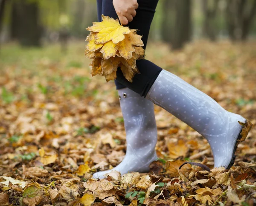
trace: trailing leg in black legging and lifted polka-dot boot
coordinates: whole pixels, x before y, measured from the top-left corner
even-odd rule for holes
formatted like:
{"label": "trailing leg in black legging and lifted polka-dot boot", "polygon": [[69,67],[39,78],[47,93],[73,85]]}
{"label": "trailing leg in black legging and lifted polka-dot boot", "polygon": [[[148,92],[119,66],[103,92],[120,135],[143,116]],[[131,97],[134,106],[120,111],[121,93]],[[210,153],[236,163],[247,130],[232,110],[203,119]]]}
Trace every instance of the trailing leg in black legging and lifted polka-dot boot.
{"label": "trailing leg in black legging and lifted polka-dot boot", "polygon": [[[145,46],[154,16],[154,9],[150,8],[148,2],[152,6],[157,1],[138,1],[137,15],[129,23],[131,29],[139,29],[138,34],[143,35]],[[120,68],[117,70],[116,81],[163,107],[198,131],[209,142],[215,167],[230,168],[236,157],[235,151],[243,128],[239,122],[245,123],[246,119],[224,110],[205,93],[150,61],[138,60],[137,67],[141,74],[136,74],[132,83],[125,79]],[[249,131],[250,126],[249,123]]]}

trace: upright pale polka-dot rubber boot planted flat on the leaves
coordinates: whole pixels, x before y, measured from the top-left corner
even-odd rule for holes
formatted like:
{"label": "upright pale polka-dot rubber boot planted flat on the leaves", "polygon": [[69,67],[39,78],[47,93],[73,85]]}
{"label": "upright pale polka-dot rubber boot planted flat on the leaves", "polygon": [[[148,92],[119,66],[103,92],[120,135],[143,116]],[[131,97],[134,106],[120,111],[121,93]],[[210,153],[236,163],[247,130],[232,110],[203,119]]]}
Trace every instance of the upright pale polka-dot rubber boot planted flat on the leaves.
{"label": "upright pale polka-dot rubber boot planted flat on the leaves", "polygon": [[157,160],[157,126],[154,104],[134,91],[118,90],[120,106],[125,123],[127,149],[125,158],[115,168],[93,174],[93,178],[105,178],[112,170],[122,174],[128,172],[148,172],[149,165]]}

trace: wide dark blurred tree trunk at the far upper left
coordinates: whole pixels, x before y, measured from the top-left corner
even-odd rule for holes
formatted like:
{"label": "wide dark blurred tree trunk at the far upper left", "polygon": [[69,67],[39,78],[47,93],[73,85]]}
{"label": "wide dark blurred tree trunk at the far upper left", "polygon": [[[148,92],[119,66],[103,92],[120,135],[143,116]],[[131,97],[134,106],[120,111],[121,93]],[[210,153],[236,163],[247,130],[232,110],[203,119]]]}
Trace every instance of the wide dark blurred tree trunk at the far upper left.
{"label": "wide dark blurred tree trunk at the far upper left", "polygon": [[41,46],[41,29],[38,3],[13,1],[11,37],[22,46]]}

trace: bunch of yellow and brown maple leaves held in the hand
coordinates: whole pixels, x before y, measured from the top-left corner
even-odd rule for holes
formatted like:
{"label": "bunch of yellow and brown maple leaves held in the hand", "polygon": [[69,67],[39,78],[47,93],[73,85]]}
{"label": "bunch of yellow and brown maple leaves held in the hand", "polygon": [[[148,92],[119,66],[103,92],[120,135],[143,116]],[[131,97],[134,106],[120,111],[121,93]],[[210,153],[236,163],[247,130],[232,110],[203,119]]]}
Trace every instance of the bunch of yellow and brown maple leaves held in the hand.
{"label": "bunch of yellow and brown maple leaves held in the hand", "polygon": [[140,73],[136,60],[143,58],[145,50],[137,35],[137,30],[120,25],[119,21],[102,15],[102,22],[93,22],[87,28],[90,34],[86,41],[85,56],[93,59],[90,63],[92,76],[105,76],[106,81],[116,79],[120,67],[125,78],[132,82],[135,74]]}

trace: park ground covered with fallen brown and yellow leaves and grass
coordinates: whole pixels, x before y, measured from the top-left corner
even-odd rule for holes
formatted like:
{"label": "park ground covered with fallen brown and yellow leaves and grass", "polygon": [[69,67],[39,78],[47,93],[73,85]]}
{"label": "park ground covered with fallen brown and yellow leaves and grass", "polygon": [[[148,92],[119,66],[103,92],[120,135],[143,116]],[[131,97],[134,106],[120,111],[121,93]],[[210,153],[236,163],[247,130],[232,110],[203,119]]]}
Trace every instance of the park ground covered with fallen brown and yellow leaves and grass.
{"label": "park ground covered with fallen brown and yellow leaves and grass", "polygon": [[[67,54],[58,45],[1,47],[0,205],[255,205],[256,129],[239,144],[230,170],[212,168],[207,141],[157,106],[160,159],[150,174],[90,179],[122,161],[125,131],[113,82],[91,78],[83,51],[81,42]],[[256,123],[255,41],[197,41],[178,52],[154,43],[146,55]],[[185,161],[212,170],[178,170]]]}

